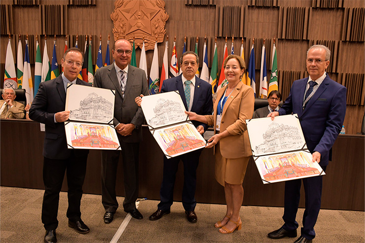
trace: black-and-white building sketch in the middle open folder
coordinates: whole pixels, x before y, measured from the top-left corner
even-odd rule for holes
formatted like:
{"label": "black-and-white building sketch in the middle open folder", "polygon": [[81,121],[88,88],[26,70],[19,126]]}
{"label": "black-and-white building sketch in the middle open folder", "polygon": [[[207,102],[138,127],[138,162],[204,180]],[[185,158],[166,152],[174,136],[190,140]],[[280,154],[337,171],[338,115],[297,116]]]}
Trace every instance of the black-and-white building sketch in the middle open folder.
{"label": "black-and-white building sketch in the middle open folder", "polygon": [[148,120],[151,126],[159,126],[169,124],[171,122],[185,120],[184,113],[179,102],[159,99],[156,106],[153,108],[154,117]]}

